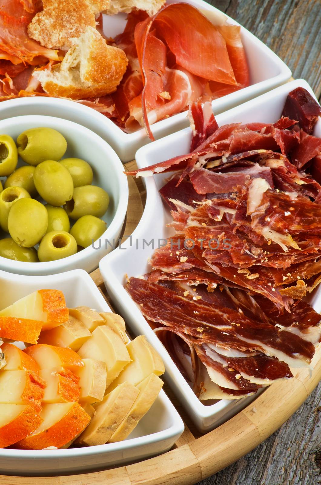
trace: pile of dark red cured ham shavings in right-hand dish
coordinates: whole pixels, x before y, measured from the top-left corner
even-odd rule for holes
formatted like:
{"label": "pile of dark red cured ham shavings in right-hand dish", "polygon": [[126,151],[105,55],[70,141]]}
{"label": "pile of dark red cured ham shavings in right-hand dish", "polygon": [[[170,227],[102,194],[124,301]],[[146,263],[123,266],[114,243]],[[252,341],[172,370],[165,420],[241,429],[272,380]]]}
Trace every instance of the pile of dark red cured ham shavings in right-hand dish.
{"label": "pile of dark red cured ham shavings in right-hand dish", "polygon": [[126,287],[202,400],[292,377],[321,340],[303,299],[321,281],[320,106],[297,88],[273,124],[209,110],[190,108],[191,153],[130,173],[175,171],[160,194],[176,234]]}

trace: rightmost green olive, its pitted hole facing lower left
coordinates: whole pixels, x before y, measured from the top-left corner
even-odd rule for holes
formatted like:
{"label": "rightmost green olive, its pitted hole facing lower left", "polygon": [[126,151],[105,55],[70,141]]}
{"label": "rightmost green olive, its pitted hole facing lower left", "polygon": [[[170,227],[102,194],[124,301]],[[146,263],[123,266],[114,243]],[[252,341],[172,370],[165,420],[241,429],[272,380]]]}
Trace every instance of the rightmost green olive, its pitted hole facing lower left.
{"label": "rightmost green olive, its pitted hole facing lower left", "polygon": [[109,195],[104,189],[95,185],[76,187],[72,199],[66,203],[65,210],[71,219],[79,219],[83,215],[102,217],[108,209]]}

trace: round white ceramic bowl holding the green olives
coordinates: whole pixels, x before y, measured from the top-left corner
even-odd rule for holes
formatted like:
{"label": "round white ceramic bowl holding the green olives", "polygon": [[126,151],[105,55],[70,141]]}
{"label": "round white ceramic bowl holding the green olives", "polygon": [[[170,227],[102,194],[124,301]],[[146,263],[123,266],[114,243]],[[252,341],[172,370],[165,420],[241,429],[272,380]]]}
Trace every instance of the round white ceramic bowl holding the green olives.
{"label": "round white ceramic bowl holding the green olives", "polygon": [[[107,229],[102,238],[111,244],[107,244],[107,248],[105,243],[101,244],[99,249],[90,245],[68,258],[44,263],[27,263],[0,257],[0,269],[21,275],[52,275],[76,268],[91,272],[97,268],[99,260],[111,251],[112,241],[118,241],[123,227],[128,205],[128,181],[123,173],[123,165],[114,150],[96,133],[71,121],[37,115],[16,116],[0,121],[0,133],[11,135],[15,140],[26,129],[36,127],[57,129],[67,140],[64,158],[78,157],[92,166],[93,184],[102,187],[110,195],[110,204],[103,217]],[[3,233],[2,237],[8,236]],[[99,245],[97,241],[94,247],[98,248]]]}

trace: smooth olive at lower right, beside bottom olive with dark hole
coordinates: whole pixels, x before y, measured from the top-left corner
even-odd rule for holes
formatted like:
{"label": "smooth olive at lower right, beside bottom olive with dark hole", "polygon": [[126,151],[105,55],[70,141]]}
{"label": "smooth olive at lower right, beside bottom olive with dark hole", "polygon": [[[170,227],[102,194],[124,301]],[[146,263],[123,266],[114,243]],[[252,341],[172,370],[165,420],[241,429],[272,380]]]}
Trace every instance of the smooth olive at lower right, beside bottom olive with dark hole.
{"label": "smooth olive at lower right, beside bottom olive with dark hole", "polygon": [[72,226],[70,234],[82,247],[90,246],[105,232],[107,224],[93,215],[83,215]]}

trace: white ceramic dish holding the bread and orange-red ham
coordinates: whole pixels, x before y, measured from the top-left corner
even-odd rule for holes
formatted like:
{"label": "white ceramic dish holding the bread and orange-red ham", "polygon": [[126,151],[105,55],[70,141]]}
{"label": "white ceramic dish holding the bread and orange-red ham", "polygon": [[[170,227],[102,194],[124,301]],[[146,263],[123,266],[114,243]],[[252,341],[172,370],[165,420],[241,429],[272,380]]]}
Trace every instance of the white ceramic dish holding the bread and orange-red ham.
{"label": "white ceramic dish holding the bread and orange-red ham", "polygon": [[[174,3],[176,0],[168,0]],[[222,13],[203,0],[185,0],[211,18]],[[239,25],[230,17],[228,22]],[[126,15],[104,16],[104,32],[108,37],[115,36],[124,30]],[[241,36],[247,55],[251,75],[251,85],[212,102],[216,114],[222,113],[233,106],[237,106],[248,99],[252,99],[288,81],[291,71],[281,59],[272,52],[265,44],[252,33],[241,27]],[[49,111],[48,111],[49,110]],[[20,98],[0,103],[0,119],[18,116],[21,114],[48,114],[60,116],[86,126],[95,131],[106,140],[116,151],[122,162],[128,162],[135,158],[135,152],[150,140],[145,129],[139,129],[134,133],[125,133],[118,128],[110,119],[91,108],[82,106],[72,101],[59,100],[56,98]],[[152,125],[152,131],[156,139],[160,139],[170,133],[188,126],[186,112],[175,114],[170,118],[161,120]]]}

